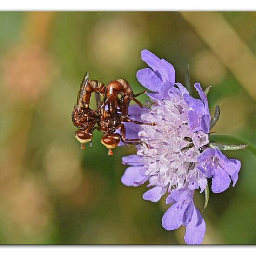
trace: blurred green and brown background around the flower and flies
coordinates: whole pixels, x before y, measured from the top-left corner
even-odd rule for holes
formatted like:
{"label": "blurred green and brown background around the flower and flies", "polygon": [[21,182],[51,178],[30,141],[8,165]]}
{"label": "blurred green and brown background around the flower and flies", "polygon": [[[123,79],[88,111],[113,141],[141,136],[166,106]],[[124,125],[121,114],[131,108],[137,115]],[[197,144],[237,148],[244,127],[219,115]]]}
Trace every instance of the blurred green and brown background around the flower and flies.
{"label": "blurred green and brown background around the flower and flies", "polygon": [[[71,112],[85,71],[104,83],[125,78],[143,90],[141,50],[171,62],[184,83],[211,85],[220,105],[213,131],[256,143],[255,12],[1,12],[0,243],[183,244],[166,231],[168,206],[125,187],[121,157],[101,134],[81,150]],[[140,100],[146,100],[140,96]],[[210,194],[205,244],[256,244],[256,160],[248,150],[236,186]],[[196,193],[199,209],[204,195]]]}

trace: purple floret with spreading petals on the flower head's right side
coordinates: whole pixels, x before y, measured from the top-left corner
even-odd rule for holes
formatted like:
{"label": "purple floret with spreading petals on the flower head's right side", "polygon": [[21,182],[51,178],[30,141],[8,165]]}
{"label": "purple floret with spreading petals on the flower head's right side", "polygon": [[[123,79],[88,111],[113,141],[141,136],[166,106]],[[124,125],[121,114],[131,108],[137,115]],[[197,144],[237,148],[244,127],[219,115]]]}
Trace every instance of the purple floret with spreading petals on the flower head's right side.
{"label": "purple floret with spreading petals on the flower head's right side", "polygon": [[197,158],[200,170],[207,178],[212,177],[212,191],[221,193],[225,191],[231,180],[233,187],[238,180],[238,172],[241,162],[236,159],[228,159],[218,148],[208,148]]}

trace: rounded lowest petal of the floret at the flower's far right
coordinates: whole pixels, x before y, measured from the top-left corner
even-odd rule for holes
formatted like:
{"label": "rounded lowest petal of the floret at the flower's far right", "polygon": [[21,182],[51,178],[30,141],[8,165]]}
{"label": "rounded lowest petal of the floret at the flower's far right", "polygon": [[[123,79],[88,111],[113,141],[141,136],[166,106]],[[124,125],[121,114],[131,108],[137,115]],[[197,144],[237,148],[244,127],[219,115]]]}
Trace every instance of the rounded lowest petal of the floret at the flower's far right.
{"label": "rounded lowest petal of the floret at the flower's far right", "polygon": [[212,192],[221,193],[226,190],[231,183],[229,175],[222,169],[215,170],[212,177]]}

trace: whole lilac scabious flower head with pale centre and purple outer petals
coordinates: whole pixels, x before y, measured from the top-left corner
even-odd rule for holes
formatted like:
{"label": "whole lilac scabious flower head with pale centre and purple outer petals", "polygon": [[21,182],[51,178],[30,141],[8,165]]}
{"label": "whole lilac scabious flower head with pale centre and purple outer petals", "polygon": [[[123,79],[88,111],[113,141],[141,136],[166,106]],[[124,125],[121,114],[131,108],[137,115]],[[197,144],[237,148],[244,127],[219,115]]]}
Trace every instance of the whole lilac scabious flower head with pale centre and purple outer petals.
{"label": "whole lilac scabious flower head with pale centre and purple outer petals", "polygon": [[152,93],[155,104],[151,109],[131,106],[130,118],[155,122],[155,126],[126,124],[128,137],[139,137],[137,154],[123,157],[129,165],[121,178],[127,186],[148,183],[150,189],[143,199],[158,202],[169,194],[166,204],[172,204],[162,218],[162,226],[174,230],[186,226],[185,242],[200,244],[205,235],[205,222],[195,207],[195,189],[202,193],[207,178],[212,178],[212,191],[226,190],[231,180],[238,179],[240,162],[228,159],[218,148],[209,148],[208,133],[211,116],[206,94],[195,83],[200,99],[175,82],[174,67],[148,50],[141,52],[142,60],[150,68],[137,72],[138,81]]}

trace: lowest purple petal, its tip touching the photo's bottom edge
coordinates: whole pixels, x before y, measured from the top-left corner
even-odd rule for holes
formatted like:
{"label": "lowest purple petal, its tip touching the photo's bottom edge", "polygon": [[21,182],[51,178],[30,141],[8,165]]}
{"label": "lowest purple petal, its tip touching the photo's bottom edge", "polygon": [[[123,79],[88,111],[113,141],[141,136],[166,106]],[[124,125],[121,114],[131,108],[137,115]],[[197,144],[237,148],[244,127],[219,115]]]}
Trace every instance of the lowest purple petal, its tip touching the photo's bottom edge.
{"label": "lowest purple petal, its tip touching the photo's bottom edge", "polygon": [[201,244],[205,235],[205,222],[199,210],[193,210],[192,219],[187,225],[185,233],[185,242],[187,244]]}

